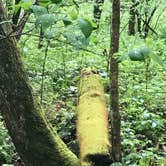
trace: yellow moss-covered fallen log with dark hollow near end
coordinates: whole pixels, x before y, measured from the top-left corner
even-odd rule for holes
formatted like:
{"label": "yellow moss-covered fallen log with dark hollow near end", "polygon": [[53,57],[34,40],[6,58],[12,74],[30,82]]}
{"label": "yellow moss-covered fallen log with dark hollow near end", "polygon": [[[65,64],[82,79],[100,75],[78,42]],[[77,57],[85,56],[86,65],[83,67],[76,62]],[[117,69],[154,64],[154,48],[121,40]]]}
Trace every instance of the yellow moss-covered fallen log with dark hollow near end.
{"label": "yellow moss-covered fallen log with dark hollow near end", "polygon": [[77,137],[81,165],[109,165],[108,112],[97,74],[83,70],[79,83]]}

